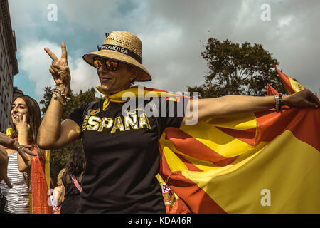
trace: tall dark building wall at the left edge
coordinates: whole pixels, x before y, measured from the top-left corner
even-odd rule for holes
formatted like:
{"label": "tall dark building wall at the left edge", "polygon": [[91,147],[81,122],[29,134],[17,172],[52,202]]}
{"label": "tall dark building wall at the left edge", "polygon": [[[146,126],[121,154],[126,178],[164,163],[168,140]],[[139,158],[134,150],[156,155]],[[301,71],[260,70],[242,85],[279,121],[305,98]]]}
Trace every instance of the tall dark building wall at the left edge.
{"label": "tall dark building wall at the left edge", "polygon": [[11,28],[8,0],[0,0],[0,131],[5,133],[10,123],[14,94],[14,75],[18,73],[16,38]]}

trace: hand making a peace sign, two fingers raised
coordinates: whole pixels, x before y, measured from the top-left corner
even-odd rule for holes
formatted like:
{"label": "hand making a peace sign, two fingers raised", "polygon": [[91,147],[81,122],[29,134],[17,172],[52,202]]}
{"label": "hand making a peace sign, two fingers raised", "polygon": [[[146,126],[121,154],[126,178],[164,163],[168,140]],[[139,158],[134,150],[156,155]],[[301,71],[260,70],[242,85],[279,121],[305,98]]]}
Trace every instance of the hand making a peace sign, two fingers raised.
{"label": "hand making a peace sign, two fingers raised", "polygon": [[65,95],[68,95],[71,77],[68,66],[67,47],[65,46],[65,42],[61,43],[60,59],[58,59],[57,56],[55,56],[55,54],[50,51],[49,48],[44,48],[44,50],[53,60],[49,71],[53,76],[56,88],[59,88]]}

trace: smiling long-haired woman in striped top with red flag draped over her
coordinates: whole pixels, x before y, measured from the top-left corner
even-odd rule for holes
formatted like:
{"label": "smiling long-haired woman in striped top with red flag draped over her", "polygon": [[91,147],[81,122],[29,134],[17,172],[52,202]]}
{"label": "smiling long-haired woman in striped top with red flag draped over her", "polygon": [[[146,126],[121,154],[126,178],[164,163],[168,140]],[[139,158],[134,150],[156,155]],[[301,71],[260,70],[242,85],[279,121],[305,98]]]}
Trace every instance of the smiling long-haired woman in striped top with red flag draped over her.
{"label": "smiling long-haired woman in striped top with red flag draped over her", "polygon": [[[40,108],[36,100],[28,95],[21,95],[11,105],[11,138],[18,144],[30,145],[32,154],[21,156],[19,147],[7,147],[9,156],[8,178],[12,188],[1,182],[1,192],[6,197],[7,203],[4,208],[8,213],[29,213],[29,187],[31,182],[33,213],[52,213],[46,202],[48,186],[44,173],[46,156],[44,151],[36,145],[38,128],[41,122]],[[25,150],[25,149],[23,149]],[[45,199],[45,200],[43,200]]]}

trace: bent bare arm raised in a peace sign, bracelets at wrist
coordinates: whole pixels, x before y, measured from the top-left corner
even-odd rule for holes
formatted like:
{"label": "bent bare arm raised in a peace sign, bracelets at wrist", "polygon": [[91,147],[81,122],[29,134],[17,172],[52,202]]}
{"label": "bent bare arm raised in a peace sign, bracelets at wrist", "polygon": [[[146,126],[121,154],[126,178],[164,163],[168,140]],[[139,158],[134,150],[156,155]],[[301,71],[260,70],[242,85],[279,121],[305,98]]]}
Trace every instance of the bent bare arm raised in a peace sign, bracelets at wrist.
{"label": "bent bare arm raised in a peace sign, bracelets at wrist", "polygon": [[61,58],[58,59],[49,48],[44,49],[52,58],[50,73],[55,81],[55,88],[60,90],[50,101],[50,105],[38,130],[38,147],[45,150],[60,149],[80,137],[80,127],[73,120],[64,120],[61,123],[65,99],[70,90],[70,71],[68,67],[67,48],[61,43]]}

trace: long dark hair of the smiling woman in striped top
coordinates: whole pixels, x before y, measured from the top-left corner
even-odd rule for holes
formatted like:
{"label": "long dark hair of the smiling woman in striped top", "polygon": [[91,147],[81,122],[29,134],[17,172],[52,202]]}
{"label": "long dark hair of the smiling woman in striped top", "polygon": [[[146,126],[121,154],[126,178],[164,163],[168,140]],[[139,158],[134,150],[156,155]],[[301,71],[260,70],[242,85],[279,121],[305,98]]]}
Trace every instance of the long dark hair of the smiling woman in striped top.
{"label": "long dark hair of the smiling woman in striped top", "polygon": [[[44,151],[36,145],[37,142],[37,135],[38,130],[41,124],[41,113],[40,113],[40,107],[36,100],[29,97],[28,95],[19,95],[18,97],[14,98],[14,101],[17,98],[22,98],[24,102],[26,102],[26,108],[28,109],[28,124],[30,124],[30,130],[28,132],[28,140],[31,140],[31,143],[34,144],[36,147],[36,151],[38,153],[38,156],[41,160],[46,160],[46,156],[44,154]],[[13,131],[13,134],[11,135],[11,138],[17,138],[18,132],[16,130],[16,126],[14,125],[14,122],[12,118],[10,118],[11,121],[11,128]]]}

